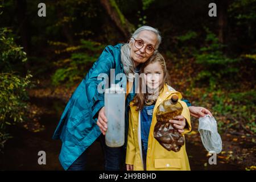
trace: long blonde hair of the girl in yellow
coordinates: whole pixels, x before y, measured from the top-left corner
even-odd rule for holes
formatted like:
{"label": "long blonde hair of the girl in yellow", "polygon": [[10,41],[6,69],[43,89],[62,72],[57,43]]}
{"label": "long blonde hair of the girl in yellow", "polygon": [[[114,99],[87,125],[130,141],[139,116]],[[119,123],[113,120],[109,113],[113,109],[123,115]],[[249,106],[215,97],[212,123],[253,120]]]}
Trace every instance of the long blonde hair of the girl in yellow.
{"label": "long blonde hair of the girl in yellow", "polygon": [[[165,83],[168,83],[168,72],[166,68],[166,61],[164,60],[164,57],[159,53],[156,52],[154,55],[150,57],[144,64],[142,64],[140,73],[144,72],[144,68],[147,67],[147,65],[152,64],[152,63],[160,63],[163,69],[163,82],[162,84],[159,85],[159,92],[163,89],[163,86]],[[158,92],[158,93],[159,93]],[[149,100],[148,96],[150,94],[148,92],[142,93],[142,78],[139,80],[139,92],[135,95],[134,97],[134,106],[137,106],[137,111],[142,110],[144,105],[152,105],[156,102],[155,100]]]}

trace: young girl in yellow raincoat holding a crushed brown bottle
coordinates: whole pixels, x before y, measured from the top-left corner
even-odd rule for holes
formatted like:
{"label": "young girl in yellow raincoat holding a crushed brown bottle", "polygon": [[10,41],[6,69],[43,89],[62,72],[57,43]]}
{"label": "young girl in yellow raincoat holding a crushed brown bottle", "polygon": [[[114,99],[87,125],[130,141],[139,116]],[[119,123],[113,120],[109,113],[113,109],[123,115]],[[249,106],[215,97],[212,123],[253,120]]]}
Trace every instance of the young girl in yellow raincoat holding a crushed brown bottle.
{"label": "young girl in yellow raincoat holding a crushed brown bottle", "polygon": [[[191,131],[187,105],[180,101],[181,94],[166,84],[167,69],[163,56],[160,53],[152,56],[141,68],[141,73],[144,73],[147,92],[137,93],[133,102],[130,103],[126,151],[127,171],[190,170],[185,144],[178,152],[168,151],[154,138],[158,106],[161,102],[170,99],[173,94],[179,96],[178,102],[183,106],[183,111],[176,120],[170,120],[170,123],[183,135]],[[158,92],[149,93],[148,89],[159,89],[159,94]],[[154,93],[156,93],[155,99]]]}

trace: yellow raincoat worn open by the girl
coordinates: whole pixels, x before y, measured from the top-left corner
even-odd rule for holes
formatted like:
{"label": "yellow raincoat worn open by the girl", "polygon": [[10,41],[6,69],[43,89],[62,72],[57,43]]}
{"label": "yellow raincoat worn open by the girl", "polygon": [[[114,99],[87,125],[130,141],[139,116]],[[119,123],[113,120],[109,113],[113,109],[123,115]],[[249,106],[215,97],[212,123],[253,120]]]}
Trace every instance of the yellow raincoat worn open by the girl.
{"label": "yellow raincoat worn open by the girl", "polygon": [[[154,138],[154,127],[156,124],[156,111],[158,106],[164,100],[170,99],[172,94],[179,96],[180,104],[183,106],[181,115],[187,120],[184,128],[184,133],[191,131],[190,114],[187,104],[180,101],[182,98],[181,93],[176,92],[167,84],[164,85],[162,92],[160,92],[158,100],[155,103],[152,123],[150,126],[150,133],[148,135],[148,149],[147,149],[147,164],[146,170],[190,170],[187,152],[185,150],[185,144],[180,148],[180,151],[168,151],[162,147],[158,141]],[[133,102],[130,103],[129,111],[129,133],[127,139],[127,151],[126,151],[126,164],[133,165],[135,171],[143,170],[142,160],[142,147],[141,147],[141,118],[140,111],[136,111],[136,106],[133,106]]]}

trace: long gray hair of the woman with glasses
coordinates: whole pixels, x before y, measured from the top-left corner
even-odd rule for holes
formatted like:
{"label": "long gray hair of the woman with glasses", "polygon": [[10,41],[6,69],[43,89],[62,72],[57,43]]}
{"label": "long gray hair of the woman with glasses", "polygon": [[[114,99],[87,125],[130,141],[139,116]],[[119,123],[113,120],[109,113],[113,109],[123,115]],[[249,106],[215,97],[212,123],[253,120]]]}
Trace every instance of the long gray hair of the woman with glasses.
{"label": "long gray hair of the woman with glasses", "polygon": [[[156,28],[153,28],[150,26],[142,26],[142,27],[139,27],[137,30],[135,30],[135,32],[131,36],[137,38],[138,34],[144,30],[151,31],[156,34],[157,39],[158,39],[158,42],[156,43],[156,51],[154,52],[154,53],[156,53],[157,49],[162,41],[160,32]],[[124,44],[121,48],[121,61],[122,61],[123,69],[125,71],[126,76],[129,76],[129,73],[135,73],[135,64],[134,64],[134,61],[130,57],[129,43]]]}

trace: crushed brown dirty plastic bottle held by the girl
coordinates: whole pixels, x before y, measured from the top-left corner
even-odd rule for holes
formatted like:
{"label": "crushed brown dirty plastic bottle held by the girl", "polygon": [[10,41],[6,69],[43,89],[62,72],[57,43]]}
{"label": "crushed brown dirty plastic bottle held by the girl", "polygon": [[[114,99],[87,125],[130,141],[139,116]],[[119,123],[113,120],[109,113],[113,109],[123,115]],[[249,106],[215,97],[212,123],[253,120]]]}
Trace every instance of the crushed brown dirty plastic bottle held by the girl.
{"label": "crushed brown dirty plastic bottle held by the girl", "polygon": [[168,151],[179,151],[180,147],[184,145],[184,137],[177,129],[169,122],[170,119],[174,119],[177,115],[180,115],[183,107],[177,102],[178,97],[172,96],[170,100],[162,102],[158,106],[156,112],[156,122],[154,128],[154,138],[166,148]]}

